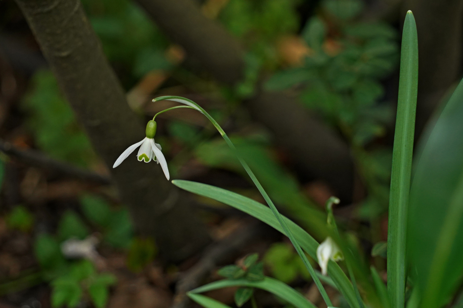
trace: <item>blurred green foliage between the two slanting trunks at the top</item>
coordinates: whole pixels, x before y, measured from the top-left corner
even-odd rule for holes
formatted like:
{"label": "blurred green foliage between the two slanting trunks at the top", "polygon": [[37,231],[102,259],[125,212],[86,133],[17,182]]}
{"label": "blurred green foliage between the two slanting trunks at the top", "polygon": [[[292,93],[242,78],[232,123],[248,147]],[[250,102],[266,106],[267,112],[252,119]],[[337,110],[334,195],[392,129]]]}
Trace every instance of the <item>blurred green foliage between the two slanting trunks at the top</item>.
{"label": "blurred green foliage between the two slanting trunks at the top", "polygon": [[109,61],[117,63],[123,84],[129,88],[152,70],[170,70],[166,59],[169,41],[145,12],[128,0],[83,0]]}

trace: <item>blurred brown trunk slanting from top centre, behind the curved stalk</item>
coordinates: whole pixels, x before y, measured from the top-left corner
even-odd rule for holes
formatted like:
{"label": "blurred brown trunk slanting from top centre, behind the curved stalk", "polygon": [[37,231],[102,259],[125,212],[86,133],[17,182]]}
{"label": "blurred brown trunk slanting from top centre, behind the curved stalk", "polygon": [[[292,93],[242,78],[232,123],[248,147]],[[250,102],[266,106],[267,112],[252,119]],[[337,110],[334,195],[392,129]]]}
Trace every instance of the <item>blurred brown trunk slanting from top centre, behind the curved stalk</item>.
{"label": "blurred brown trunk slanting from top centre, behind the curved stalk", "polygon": [[[242,77],[244,50],[193,0],[136,0],[172,41],[196,58],[217,80],[233,85]],[[226,76],[226,77],[224,77]],[[294,97],[261,92],[246,102],[251,115],[275,133],[302,170],[325,180],[343,202],[350,202],[353,163],[348,146],[310,116]]]}

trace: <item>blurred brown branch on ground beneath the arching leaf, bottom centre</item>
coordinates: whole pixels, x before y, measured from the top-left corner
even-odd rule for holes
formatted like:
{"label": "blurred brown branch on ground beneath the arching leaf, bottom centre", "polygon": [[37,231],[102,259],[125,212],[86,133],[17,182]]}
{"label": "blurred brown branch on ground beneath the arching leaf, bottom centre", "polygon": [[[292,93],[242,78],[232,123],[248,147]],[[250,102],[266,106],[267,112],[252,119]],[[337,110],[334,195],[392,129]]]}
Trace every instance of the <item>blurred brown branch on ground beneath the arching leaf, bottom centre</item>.
{"label": "blurred brown branch on ground beneath the arching leaf, bottom centre", "polygon": [[177,282],[174,304],[171,308],[186,308],[189,303],[187,292],[198,287],[217,264],[234,258],[240,248],[256,239],[260,231],[262,231],[262,224],[254,221],[227,236],[224,240],[213,243],[206,248],[201,259]]}

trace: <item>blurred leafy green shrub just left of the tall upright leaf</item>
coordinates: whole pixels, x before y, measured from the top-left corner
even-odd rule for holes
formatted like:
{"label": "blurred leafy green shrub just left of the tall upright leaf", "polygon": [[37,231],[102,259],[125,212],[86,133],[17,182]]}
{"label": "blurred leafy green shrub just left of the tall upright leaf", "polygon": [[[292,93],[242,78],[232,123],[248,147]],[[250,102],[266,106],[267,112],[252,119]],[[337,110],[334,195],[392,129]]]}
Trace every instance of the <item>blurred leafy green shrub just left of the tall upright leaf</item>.
{"label": "blurred leafy green shrub just left of the tall upright leaf", "polygon": [[266,88],[302,90],[301,103],[344,135],[369,193],[359,216],[374,220],[388,208],[392,157],[370,144],[393,120],[390,104],[378,102],[381,80],[399,59],[397,33],[382,22],[359,21],[363,1],[323,0],[321,6],[301,33],[310,48],[303,65],[276,72]]}

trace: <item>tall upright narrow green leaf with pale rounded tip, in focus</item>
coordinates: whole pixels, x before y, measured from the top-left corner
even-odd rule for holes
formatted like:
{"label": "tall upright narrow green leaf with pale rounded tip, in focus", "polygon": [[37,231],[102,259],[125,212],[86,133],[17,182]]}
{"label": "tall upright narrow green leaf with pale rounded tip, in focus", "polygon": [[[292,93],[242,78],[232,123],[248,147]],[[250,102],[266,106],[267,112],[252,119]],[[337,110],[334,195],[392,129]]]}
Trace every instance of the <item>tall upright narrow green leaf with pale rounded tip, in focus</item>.
{"label": "tall upright narrow green leaf with pale rounded tip, in focus", "polygon": [[403,308],[405,305],[405,235],[412,173],[417,91],[418,36],[413,13],[408,11],[402,34],[399,99],[389,197],[388,292],[392,308]]}

